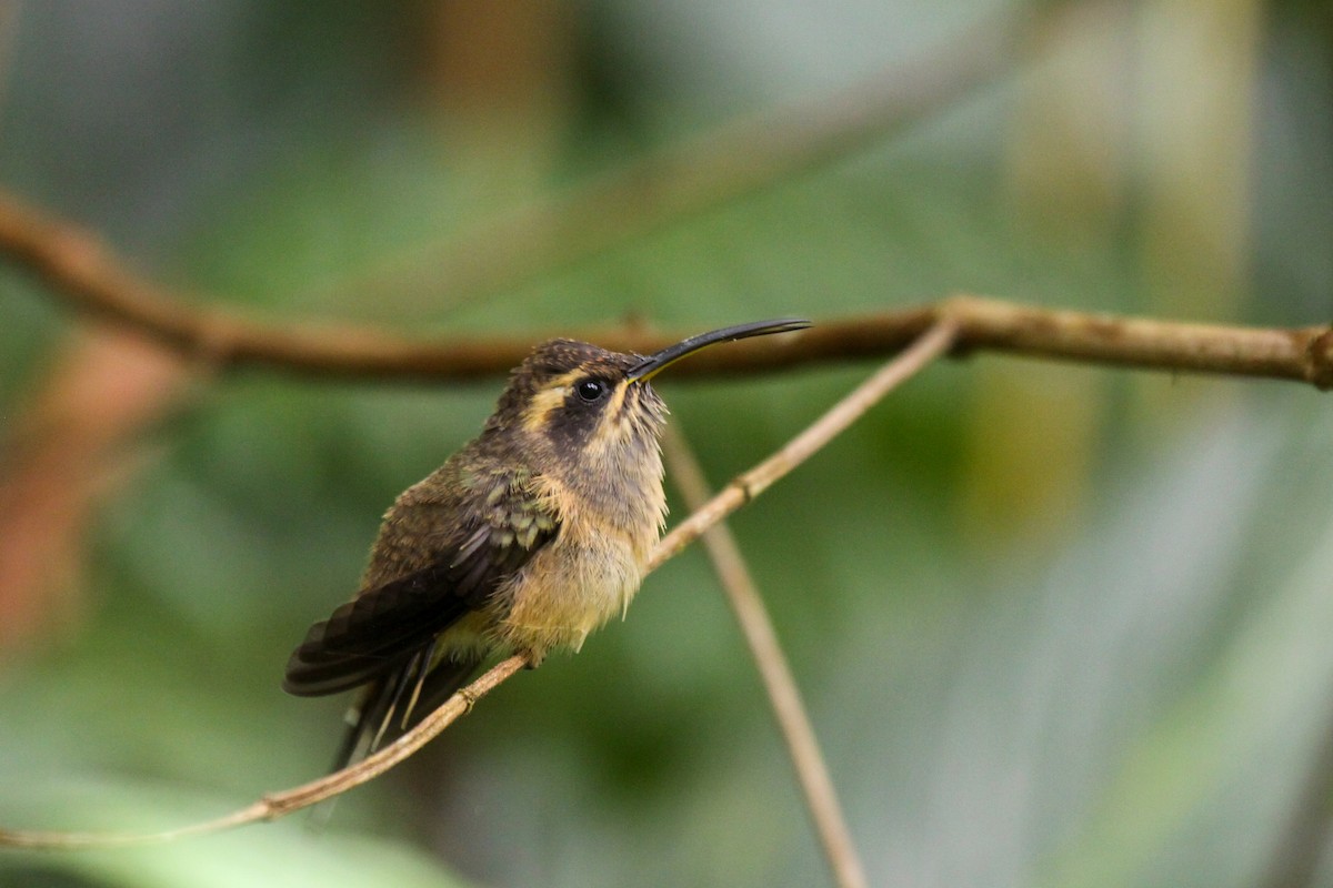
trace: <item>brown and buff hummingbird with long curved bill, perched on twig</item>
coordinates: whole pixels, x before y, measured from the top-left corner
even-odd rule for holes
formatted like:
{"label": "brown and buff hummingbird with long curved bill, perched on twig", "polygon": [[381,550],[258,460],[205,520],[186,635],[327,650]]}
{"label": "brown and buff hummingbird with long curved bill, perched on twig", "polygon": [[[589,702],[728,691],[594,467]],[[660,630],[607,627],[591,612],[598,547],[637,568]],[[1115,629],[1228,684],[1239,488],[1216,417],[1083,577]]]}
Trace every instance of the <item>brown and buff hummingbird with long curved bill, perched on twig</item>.
{"label": "brown and buff hummingbird with long curved bill, perched on twig", "polygon": [[364,686],[335,770],[407,730],[487,658],[521,654],[535,668],[624,616],[666,518],[666,406],[649,381],[710,345],[808,326],[741,324],[647,357],[536,346],[481,434],[399,495],[360,590],[287,663],[283,688],[297,696]]}

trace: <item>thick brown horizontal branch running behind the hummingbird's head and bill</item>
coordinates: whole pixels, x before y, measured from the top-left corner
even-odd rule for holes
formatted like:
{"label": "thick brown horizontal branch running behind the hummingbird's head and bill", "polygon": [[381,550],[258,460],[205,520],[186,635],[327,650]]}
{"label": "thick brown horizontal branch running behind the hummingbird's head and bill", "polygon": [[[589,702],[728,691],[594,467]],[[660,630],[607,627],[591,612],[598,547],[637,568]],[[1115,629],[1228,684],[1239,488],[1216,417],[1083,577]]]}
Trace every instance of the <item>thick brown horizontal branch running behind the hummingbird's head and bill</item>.
{"label": "thick brown horizontal branch running behind the hummingbird's head and bill", "polygon": [[[127,272],[96,240],[0,196],[0,253],[36,273],[76,309],[124,325],[188,358],[320,377],[473,379],[507,373],[532,342],[517,337],[412,341],[360,326],[276,328],[176,301]],[[737,342],[681,363],[673,377],[765,373],[884,358],[932,325],[957,326],[956,353],[1009,351],[1146,370],[1210,373],[1333,387],[1333,328],[1184,324],[1022,306],[958,296],[936,305],[825,320],[782,342]],[[689,330],[688,333],[693,333]],[[677,335],[564,330],[619,351],[653,351]]]}

